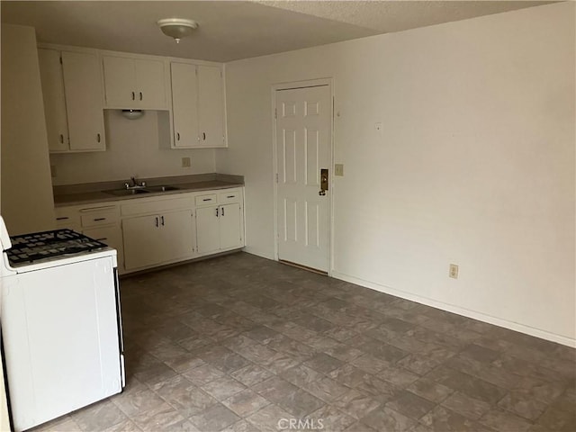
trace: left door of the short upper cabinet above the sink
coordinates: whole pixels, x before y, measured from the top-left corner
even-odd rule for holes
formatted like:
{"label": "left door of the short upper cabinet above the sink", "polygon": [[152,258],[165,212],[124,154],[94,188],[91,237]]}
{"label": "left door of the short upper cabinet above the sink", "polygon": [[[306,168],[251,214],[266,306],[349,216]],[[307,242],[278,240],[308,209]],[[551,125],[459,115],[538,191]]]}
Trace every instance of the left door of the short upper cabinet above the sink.
{"label": "left door of the short upper cabinet above the sink", "polygon": [[134,60],[103,57],[104,88],[108,108],[134,108],[136,105],[136,69]]}

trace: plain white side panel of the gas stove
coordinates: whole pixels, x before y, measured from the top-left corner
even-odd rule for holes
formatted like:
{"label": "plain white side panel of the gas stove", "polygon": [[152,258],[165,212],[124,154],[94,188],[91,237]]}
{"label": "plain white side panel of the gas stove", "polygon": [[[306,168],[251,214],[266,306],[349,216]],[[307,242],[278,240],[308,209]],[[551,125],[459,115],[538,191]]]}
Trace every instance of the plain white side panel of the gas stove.
{"label": "plain white side panel of the gas stove", "polygon": [[2,280],[16,431],[121,392],[113,267],[103,257]]}

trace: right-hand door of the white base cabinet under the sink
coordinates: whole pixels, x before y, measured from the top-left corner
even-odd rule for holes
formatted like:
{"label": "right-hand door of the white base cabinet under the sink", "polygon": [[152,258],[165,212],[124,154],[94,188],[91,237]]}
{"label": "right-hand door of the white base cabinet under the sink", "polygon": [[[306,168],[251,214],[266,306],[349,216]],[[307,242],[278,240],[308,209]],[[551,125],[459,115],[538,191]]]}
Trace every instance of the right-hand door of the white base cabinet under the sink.
{"label": "right-hand door of the white base cabinet under the sink", "polygon": [[192,211],[171,211],[160,215],[162,262],[193,256]]}

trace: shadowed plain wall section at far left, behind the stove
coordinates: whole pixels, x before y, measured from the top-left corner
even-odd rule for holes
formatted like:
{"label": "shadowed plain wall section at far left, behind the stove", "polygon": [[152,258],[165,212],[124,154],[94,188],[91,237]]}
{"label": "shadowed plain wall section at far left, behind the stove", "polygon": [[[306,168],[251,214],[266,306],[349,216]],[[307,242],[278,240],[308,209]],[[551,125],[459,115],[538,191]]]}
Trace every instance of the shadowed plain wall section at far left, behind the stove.
{"label": "shadowed plain wall section at far left, behind the stove", "polygon": [[2,202],[11,235],[53,229],[36,33],[2,23]]}

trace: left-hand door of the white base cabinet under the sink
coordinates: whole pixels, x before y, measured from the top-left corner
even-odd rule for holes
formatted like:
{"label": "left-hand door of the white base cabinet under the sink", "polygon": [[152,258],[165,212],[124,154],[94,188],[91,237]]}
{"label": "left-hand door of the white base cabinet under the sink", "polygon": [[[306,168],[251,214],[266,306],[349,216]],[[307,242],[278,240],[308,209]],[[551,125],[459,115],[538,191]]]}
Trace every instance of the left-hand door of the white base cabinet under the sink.
{"label": "left-hand door of the white base cabinet under the sink", "polygon": [[159,223],[159,215],[122,220],[126,270],[154,266],[162,261]]}

